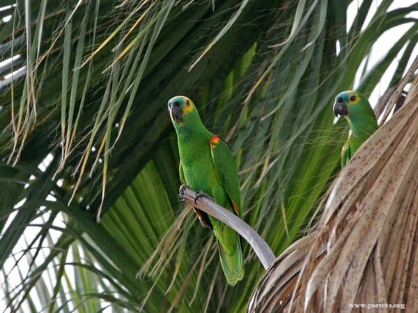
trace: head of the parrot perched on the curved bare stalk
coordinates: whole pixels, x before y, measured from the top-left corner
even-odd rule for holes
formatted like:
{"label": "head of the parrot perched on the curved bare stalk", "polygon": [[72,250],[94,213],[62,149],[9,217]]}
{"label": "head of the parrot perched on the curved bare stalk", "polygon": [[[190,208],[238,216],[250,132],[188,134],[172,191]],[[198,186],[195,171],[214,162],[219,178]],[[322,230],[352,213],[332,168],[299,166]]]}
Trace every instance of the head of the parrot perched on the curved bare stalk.
{"label": "head of the parrot perched on the curved bare stalk", "polygon": [[176,96],[169,99],[169,113],[174,127],[183,127],[201,123],[199,113],[192,100],[185,96]]}

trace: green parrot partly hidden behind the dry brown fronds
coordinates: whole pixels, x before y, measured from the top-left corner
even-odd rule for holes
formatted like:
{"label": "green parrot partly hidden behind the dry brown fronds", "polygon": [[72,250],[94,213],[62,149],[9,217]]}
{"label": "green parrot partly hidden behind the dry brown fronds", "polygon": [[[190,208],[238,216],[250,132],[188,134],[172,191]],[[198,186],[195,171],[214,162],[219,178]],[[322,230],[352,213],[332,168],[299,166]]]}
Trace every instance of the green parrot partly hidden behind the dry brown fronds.
{"label": "green parrot partly hidden behind the dry brown fronds", "polygon": [[346,166],[360,145],[378,129],[376,115],[369,100],[362,93],[347,90],[339,93],[334,102],[335,116],[344,116],[350,124],[350,133],[341,150],[341,166]]}

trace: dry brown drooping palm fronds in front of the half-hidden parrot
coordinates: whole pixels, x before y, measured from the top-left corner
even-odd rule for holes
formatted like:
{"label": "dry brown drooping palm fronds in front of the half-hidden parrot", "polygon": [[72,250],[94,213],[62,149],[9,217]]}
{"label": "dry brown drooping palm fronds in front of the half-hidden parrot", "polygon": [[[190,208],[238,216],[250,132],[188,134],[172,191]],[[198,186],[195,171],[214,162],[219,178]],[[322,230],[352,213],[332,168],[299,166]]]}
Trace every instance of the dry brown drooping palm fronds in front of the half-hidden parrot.
{"label": "dry brown drooping palm fronds in front of the half-hidden parrot", "polygon": [[417,63],[392,95],[385,94],[387,104],[378,107],[385,124],[336,177],[316,226],[263,275],[248,312],[394,312],[353,304],[417,312],[417,77],[401,99]]}

